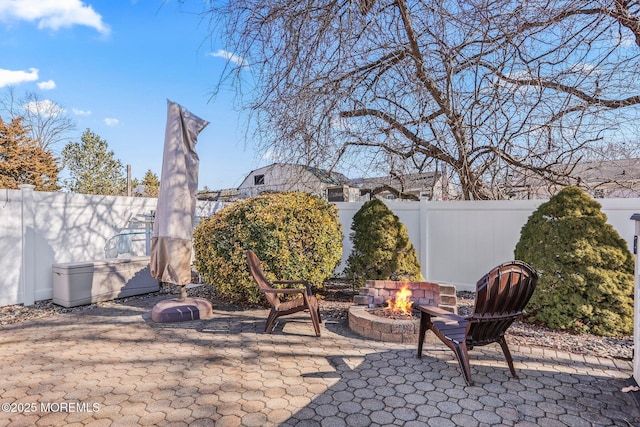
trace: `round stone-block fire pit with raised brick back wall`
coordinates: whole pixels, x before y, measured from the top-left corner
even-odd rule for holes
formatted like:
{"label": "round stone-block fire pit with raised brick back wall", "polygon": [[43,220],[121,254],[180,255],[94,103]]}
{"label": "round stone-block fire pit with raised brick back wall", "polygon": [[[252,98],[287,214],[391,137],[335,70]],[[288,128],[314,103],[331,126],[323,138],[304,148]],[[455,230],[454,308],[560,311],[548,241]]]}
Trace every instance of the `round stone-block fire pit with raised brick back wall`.
{"label": "round stone-block fire pit with raised brick back wall", "polygon": [[453,285],[368,280],[359,295],[354,297],[356,305],[349,309],[349,328],[365,338],[397,343],[417,343],[420,331],[420,319],[417,315],[391,318],[374,314],[376,308],[379,310],[386,306],[386,301],[395,298],[398,290],[405,285],[411,291],[414,307],[437,305],[457,313],[456,288]]}

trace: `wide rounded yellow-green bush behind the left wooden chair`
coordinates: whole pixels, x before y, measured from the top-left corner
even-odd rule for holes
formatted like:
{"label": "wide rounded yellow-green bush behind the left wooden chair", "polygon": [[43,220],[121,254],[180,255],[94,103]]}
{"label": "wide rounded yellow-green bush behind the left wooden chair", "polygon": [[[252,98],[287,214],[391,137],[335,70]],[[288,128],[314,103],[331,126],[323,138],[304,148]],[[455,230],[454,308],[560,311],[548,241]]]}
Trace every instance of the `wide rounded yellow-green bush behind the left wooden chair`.
{"label": "wide rounded yellow-green bush behind the left wooden chair", "polygon": [[247,249],[270,279],[304,279],[321,287],[342,258],[335,206],[317,196],[273,193],[243,200],[204,219],[194,231],[195,268],[229,300],[264,302],[249,275]]}

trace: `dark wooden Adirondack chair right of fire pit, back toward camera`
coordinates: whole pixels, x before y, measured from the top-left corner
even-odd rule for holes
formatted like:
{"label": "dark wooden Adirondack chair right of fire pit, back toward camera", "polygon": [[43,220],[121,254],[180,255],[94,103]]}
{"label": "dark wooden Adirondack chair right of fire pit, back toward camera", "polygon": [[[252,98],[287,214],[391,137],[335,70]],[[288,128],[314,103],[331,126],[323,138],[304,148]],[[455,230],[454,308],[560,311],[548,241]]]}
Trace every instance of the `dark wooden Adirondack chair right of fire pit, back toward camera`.
{"label": "dark wooden Adirondack chair right of fire pit, back toward camera", "polygon": [[517,378],[513,358],[504,334],[511,324],[524,313],[538,282],[536,271],[521,261],[501,264],[482,277],[476,284],[473,313],[458,316],[439,307],[421,305],[418,358],[427,330],[453,350],[468,385],[471,380],[469,353],[474,346],[498,343],[502,347],[511,375]]}

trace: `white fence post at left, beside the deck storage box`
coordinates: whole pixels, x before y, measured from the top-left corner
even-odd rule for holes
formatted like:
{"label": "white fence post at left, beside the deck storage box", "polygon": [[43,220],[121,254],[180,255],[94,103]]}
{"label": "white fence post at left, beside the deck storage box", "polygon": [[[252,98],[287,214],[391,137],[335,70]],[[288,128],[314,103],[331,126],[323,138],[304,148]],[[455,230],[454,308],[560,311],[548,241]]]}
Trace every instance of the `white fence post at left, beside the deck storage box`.
{"label": "white fence post at left, beside the deck storage box", "polygon": [[35,185],[20,184],[22,201],[22,271],[20,287],[22,288],[22,303],[30,306],[36,299],[35,272],[35,208],[33,203],[33,189]]}

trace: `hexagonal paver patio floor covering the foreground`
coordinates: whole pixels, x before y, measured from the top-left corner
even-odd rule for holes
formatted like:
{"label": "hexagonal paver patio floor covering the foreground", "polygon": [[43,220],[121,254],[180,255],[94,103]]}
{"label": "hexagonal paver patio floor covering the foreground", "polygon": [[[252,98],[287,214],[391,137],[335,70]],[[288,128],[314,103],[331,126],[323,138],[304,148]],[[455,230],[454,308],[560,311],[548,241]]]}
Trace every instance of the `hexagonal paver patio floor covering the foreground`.
{"label": "hexagonal paver patio floor covering the foreground", "polygon": [[[166,296],[0,327],[0,425],[636,426],[630,361],[496,345],[452,353],[366,340],[308,315],[263,334],[267,310],[156,324]],[[428,334],[428,337],[431,334]],[[431,338],[433,338],[431,336]]]}

